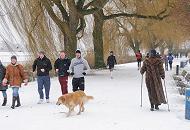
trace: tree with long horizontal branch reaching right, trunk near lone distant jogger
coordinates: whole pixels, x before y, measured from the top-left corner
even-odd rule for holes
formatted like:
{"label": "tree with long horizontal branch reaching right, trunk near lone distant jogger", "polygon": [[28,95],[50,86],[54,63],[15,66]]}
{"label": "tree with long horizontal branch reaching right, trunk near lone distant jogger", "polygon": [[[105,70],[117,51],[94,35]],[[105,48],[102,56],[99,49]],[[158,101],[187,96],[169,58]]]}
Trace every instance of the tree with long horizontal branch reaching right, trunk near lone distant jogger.
{"label": "tree with long horizontal branch reaching right, trunk near lone distant jogger", "polygon": [[[142,14],[136,8],[139,5],[139,2],[135,1],[133,9],[130,6],[127,6],[131,0],[113,0],[110,5],[105,5],[104,10],[101,9],[94,13],[94,30],[93,30],[93,42],[95,50],[95,66],[104,67],[104,55],[103,55],[103,25],[107,20],[111,20],[118,17],[125,18],[139,18],[139,19],[152,19],[152,20],[163,20],[168,16],[168,7],[164,6],[158,12],[151,14]],[[133,1],[132,1],[133,2]],[[149,1],[150,3],[151,1]],[[118,7],[117,4],[120,3],[121,7]],[[106,9],[106,8],[111,9]],[[130,7],[130,9],[129,9]],[[131,11],[129,11],[131,10]],[[96,53],[96,51],[98,53]]]}

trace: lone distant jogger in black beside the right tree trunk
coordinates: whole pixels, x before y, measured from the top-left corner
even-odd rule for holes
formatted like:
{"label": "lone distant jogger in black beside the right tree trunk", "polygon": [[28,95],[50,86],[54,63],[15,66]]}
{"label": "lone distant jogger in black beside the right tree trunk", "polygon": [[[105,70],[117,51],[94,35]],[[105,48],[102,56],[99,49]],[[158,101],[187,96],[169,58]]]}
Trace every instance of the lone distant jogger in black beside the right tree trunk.
{"label": "lone distant jogger in black beside the right tree trunk", "polygon": [[113,75],[112,75],[112,71],[114,69],[114,65],[117,64],[117,61],[116,61],[116,58],[115,56],[113,55],[113,51],[110,51],[110,56],[108,57],[107,59],[107,65],[108,65],[108,68],[110,70],[110,75],[111,75],[111,78],[113,78]]}

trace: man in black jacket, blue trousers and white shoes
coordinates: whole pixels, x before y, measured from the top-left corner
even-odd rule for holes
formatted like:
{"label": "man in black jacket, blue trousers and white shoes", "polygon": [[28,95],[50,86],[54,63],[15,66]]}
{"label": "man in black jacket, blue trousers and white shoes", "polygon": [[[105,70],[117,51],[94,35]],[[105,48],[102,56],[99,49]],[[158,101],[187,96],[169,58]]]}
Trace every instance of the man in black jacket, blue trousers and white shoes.
{"label": "man in black jacket, blue trousers and white shoes", "polygon": [[38,53],[39,57],[34,61],[33,72],[37,67],[37,82],[38,82],[38,93],[40,95],[40,100],[38,104],[43,103],[44,93],[43,87],[45,88],[46,102],[49,103],[49,92],[50,92],[50,76],[49,71],[52,70],[52,65],[50,60],[45,56],[44,52]]}

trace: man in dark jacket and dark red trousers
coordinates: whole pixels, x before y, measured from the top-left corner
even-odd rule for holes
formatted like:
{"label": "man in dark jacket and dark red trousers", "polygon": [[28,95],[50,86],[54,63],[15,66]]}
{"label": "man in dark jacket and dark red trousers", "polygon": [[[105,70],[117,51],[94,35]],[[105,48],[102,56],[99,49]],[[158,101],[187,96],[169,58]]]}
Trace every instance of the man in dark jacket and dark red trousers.
{"label": "man in dark jacket and dark red trousers", "polygon": [[68,70],[71,60],[68,59],[64,51],[60,52],[60,57],[55,61],[54,69],[58,73],[59,83],[61,85],[62,95],[68,93]]}

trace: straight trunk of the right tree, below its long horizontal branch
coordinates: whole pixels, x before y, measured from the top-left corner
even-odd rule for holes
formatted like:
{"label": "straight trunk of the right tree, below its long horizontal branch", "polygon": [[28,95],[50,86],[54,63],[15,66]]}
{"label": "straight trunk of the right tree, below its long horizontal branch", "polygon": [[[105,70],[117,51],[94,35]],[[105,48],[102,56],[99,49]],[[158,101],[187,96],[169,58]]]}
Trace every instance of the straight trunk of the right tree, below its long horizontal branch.
{"label": "straight trunk of the right tree, below its long horizontal branch", "polygon": [[94,14],[94,30],[93,30],[93,42],[94,42],[94,56],[95,56],[95,68],[105,67],[104,63],[104,47],[103,47],[103,10]]}

